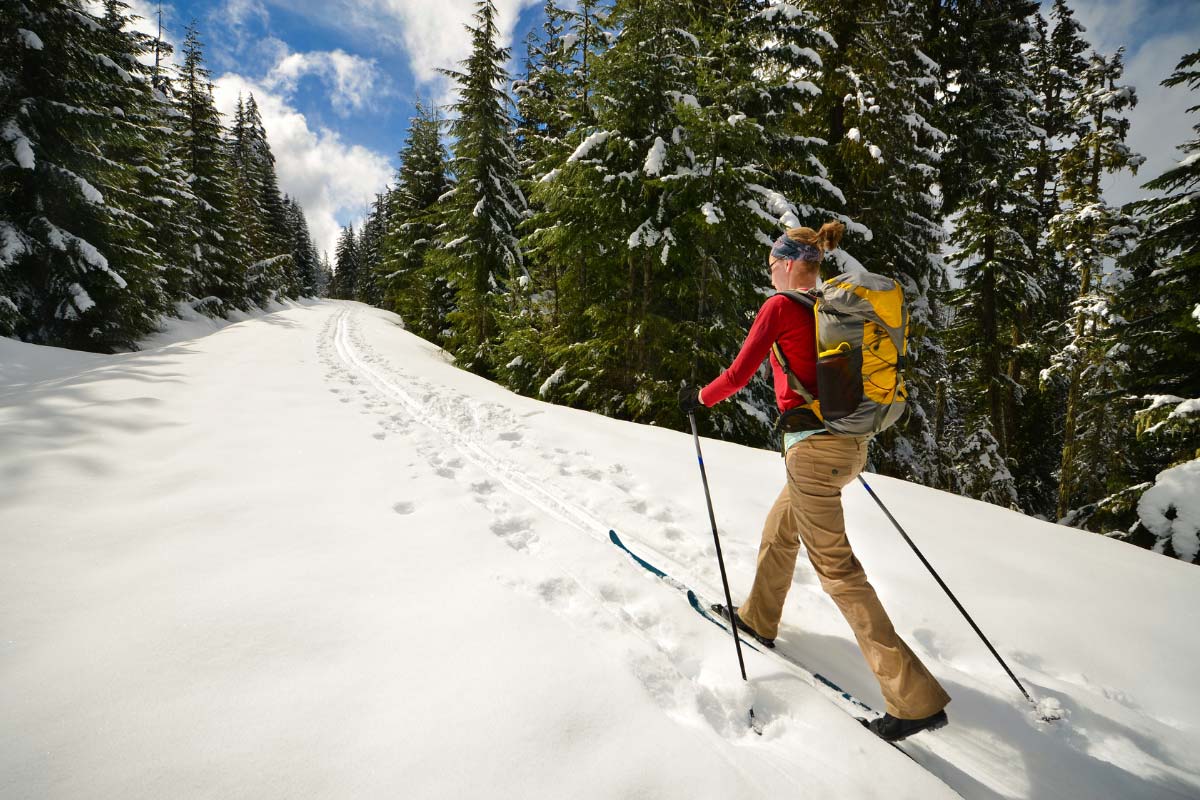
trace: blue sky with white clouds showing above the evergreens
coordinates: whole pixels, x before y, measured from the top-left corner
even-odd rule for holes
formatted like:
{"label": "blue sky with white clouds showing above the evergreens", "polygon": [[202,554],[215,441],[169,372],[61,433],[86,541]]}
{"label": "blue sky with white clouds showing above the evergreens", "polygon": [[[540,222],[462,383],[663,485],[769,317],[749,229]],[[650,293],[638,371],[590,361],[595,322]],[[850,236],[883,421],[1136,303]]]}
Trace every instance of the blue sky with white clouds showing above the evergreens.
{"label": "blue sky with white clouds showing above the evergreens", "polygon": [[[126,0],[150,26],[158,4]],[[1044,5],[1049,6],[1049,2]],[[1072,0],[1093,47],[1127,49],[1127,83],[1140,103],[1130,145],[1147,157],[1138,175],[1108,181],[1110,199],[1172,163],[1188,138],[1184,91],[1165,90],[1183,53],[1200,42],[1200,0]],[[362,218],[392,178],[413,104],[450,100],[437,73],[467,55],[470,0],[173,0],[163,2],[167,37],[181,42],[199,23],[217,102],[232,109],[252,91],[263,109],[280,185],[305,207],[317,246],[332,251],[338,227]],[[541,0],[497,0],[512,67],[524,35],[540,24]]]}

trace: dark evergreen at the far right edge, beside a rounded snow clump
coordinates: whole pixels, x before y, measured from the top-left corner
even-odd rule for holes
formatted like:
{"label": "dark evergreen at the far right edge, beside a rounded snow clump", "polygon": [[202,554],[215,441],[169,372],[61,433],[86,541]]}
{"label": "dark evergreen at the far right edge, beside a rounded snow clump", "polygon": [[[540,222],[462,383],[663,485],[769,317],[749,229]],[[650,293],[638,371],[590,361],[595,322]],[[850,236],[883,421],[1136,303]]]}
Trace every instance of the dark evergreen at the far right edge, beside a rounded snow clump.
{"label": "dark evergreen at the far right edge, beside a rounded snow clump", "polygon": [[[1184,55],[1163,85],[1200,89],[1200,50]],[[1198,112],[1200,104],[1188,108]],[[1076,516],[1093,530],[1126,531],[1138,545],[1196,561],[1195,522],[1178,499],[1147,493],[1162,473],[1195,469],[1200,459],[1200,122],[1193,131],[1178,146],[1180,163],[1145,185],[1162,194],[1132,209],[1141,237],[1121,261],[1129,278],[1114,297],[1106,345],[1129,365],[1112,402],[1115,416],[1134,411],[1136,440],[1120,443],[1129,457],[1115,491]],[[1128,416],[1115,423],[1128,429]]]}

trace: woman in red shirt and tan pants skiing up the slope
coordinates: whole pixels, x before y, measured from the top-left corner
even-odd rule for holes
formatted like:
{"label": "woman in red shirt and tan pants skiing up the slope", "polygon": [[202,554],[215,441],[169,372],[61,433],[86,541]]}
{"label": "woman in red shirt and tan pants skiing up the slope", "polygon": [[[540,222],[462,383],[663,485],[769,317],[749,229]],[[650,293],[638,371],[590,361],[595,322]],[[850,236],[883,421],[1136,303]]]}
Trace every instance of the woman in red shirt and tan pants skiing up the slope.
{"label": "woman in red shirt and tan pants skiing up the slope", "polygon": [[[821,230],[791,228],[770,248],[772,285],[778,291],[812,289],[826,252],[838,247],[844,231],[840,222],[827,222]],[[766,646],[775,646],[803,541],[821,587],[850,622],[883,692],[887,712],[869,727],[894,741],[946,724],[944,706],[950,698],[896,634],[846,536],[841,489],[866,465],[870,437],[829,434],[806,401],[788,387],[784,367],[772,353],[778,343],[792,373],[816,396],[815,325],[810,308],[773,295],[758,309],[730,368],[698,391],[685,386],[679,407],[690,414],[720,403],[743,389],[770,356],[787,483],[767,515],[754,585],[733,612],[733,621]]]}

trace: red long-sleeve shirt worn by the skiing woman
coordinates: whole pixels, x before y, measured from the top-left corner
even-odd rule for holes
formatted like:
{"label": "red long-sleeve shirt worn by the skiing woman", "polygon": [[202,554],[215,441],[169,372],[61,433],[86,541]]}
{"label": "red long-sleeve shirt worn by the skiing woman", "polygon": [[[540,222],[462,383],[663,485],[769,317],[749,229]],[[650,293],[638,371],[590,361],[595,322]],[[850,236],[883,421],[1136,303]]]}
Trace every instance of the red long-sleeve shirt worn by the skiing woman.
{"label": "red long-sleeve shirt worn by the skiing woman", "polygon": [[754,377],[762,360],[770,355],[775,377],[775,404],[780,411],[804,405],[804,398],[787,385],[787,375],[775,360],[770,345],[779,342],[792,372],[804,387],[817,396],[817,341],[812,312],[784,295],[772,295],[758,309],[742,350],[720,378],[701,390],[704,405],[715,405],[736,393]]}

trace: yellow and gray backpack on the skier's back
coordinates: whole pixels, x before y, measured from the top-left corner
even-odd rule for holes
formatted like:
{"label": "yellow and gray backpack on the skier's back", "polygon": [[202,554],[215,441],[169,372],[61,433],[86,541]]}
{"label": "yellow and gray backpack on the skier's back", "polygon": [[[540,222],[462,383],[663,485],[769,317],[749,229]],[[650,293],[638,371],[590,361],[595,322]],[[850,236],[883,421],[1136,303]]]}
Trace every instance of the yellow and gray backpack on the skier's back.
{"label": "yellow and gray backpack on the skier's back", "polygon": [[779,343],[773,348],[787,385],[804,398],[803,408],[838,435],[871,435],[894,425],[907,399],[908,307],[900,284],[871,272],[845,272],[811,291],[780,294],[816,317],[816,397],[792,372]]}

